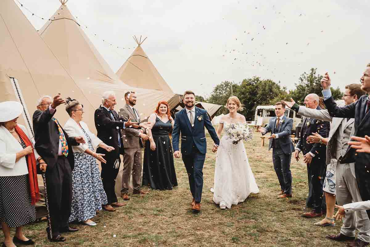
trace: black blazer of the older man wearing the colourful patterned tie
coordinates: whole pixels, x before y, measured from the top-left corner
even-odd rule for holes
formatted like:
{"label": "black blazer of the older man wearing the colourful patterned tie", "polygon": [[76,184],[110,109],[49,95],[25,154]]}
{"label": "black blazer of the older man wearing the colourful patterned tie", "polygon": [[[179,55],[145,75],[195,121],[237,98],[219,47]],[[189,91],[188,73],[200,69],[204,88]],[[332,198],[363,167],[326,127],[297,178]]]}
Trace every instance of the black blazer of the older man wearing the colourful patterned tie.
{"label": "black blazer of the older man wearing the colourful patterned tie", "polygon": [[[54,168],[58,159],[59,150],[59,129],[58,125],[51,120],[57,110],[51,114],[49,108],[41,111],[36,110],[33,113],[33,132],[35,133],[35,148],[38,154],[45,160],[48,167],[46,172]],[[59,123],[62,128],[61,124]],[[63,130],[63,128],[62,128]],[[74,168],[74,156],[72,146],[78,146],[75,137],[68,137],[68,134],[63,130],[65,140],[68,144],[68,162],[70,163],[71,170]]]}

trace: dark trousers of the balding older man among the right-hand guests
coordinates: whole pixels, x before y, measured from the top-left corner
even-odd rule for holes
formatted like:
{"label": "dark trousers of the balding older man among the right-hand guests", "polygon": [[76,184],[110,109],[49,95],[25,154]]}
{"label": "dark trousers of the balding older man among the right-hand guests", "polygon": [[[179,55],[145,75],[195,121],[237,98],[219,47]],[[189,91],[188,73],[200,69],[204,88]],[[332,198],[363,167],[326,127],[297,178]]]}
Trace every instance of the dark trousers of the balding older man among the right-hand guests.
{"label": "dark trousers of the balding older man among the right-hand guests", "polygon": [[[322,158],[324,160],[324,158]],[[312,206],[316,213],[326,210],[325,199],[323,196],[323,184],[326,173],[326,164],[313,158],[311,164],[307,165],[307,175],[309,188],[312,191]]]}

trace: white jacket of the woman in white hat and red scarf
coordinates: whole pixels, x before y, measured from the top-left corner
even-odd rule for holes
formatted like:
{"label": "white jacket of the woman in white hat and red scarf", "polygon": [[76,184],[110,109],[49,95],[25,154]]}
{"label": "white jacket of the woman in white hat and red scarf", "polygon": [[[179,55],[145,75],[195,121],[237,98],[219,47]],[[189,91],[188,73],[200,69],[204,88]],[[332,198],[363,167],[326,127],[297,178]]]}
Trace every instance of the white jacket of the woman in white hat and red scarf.
{"label": "white jacket of the woman in white hat and red scarf", "polygon": [[[23,125],[18,124],[23,132],[28,136],[35,148],[34,138]],[[20,176],[28,174],[26,163],[26,156],[20,158],[16,162],[16,154],[23,150],[21,144],[14,138],[14,136],[5,128],[0,126],[0,177]],[[40,157],[36,149],[33,149],[36,160]],[[38,161],[37,161],[38,164]]]}

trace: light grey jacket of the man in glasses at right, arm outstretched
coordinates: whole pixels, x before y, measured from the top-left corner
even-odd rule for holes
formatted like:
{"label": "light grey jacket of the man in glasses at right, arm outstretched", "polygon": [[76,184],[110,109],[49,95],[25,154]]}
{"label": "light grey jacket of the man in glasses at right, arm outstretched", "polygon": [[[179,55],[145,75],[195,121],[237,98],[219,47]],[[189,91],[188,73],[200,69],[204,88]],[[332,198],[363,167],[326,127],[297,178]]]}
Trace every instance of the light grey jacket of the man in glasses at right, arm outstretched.
{"label": "light grey jacket of the man in glasses at right, arm outstretched", "polygon": [[[332,122],[330,126],[330,132],[329,132],[329,142],[327,143],[326,148],[326,164],[330,164],[331,159],[336,159],[336,140],[332,138],[336,135],[337,131],[341,131],[338,127],[343,121],[343,118],[339,117],[331,117],[328,110],[316,110],[316,109],[310,109],[305,106],[299,106],[298,114],[305,116],[305,117],[311,117],[313,119],[320,119],[323,121],[329,121]],[[354,119],[350,119],[347,121],[346,127],[349,126],[354,122]],[[351,130],[350,137],[352,137],[354,134],[354,128]]]}

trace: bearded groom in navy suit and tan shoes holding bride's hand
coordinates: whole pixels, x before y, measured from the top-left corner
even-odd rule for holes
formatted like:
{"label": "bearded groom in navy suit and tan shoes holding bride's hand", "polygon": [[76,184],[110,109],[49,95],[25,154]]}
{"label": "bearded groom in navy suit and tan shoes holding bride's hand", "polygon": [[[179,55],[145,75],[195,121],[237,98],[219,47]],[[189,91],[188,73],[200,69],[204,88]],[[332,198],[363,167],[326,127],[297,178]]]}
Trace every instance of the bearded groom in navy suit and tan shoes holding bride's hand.
{"label": "bearded groom in navy suit and tan shoes holding bride's hand", "polygon": [[220,143],[216,130],[209,121],[207,111],[195,107],[195,94],[185,91],[183,96],[185,108],[176,113],[174,130],[172,131],[172,146],[175,158],[180,158],[179,136],[181,133],[181,154],[186,172],[189,177],[189,186],[193,195],[192,210],[201,210],[201,198],[203,190],[203,164],[206,157],[207,140],[204,127],[213,140],[212,151],[217,151]]}

